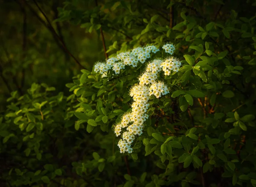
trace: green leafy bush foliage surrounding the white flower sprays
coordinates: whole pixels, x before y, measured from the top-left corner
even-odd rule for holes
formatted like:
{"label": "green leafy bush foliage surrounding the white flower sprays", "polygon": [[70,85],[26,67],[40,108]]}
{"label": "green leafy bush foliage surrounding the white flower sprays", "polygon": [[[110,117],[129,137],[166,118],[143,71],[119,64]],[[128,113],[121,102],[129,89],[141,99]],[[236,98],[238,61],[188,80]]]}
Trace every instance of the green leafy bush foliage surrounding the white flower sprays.
{"label": "green leafy bush foliage surrounding the white flower sprays", "polygon": [[[197,11],[202,4],[205,12]],[[3,184],[255,187],[256,21],[254,15],[240,17],[235,10],[210,17],[210,7],[226,8],[221,4],[163,3],[165,8],[183,6],[177,18],[180,23],[170,28],[157,20],[159,16],[147,17],[145,30],[134,33],[128,45],[113,44],[126,46],[119,55],[138,43],[154,42],[160,51],[135,67],[123,65],[118,73],[112,66],[106,73],[100,72],[103,76],[81,70],[82,74],[66,84],[70,96],[54,94],[55,88],[35,83],[24,96],[12,92],[0,118]],[[107,5],[113,12],[126,5],[126,16],[134,12],[127,2]],[[251,5],[255,3],[247,6]],[[236,8],[236,3],[230,7]],[[97,8],[93,11],[85,18],[102,14]],[[63,9],[61,15],[62,20],[71,19]],[[79,23],[78,14],[71,15]],[[121,20],[116,23],[122,24]],[[100,27],[90,24],[93,27],[81,26],[89,31]],[[132,151],[120,153],[114,127],[131,112],[130,90],[141,82],[147,62],[170,58],[161,48],[167,41],[175,44],[173,56],[180,59],[179,71],[158,72],[154,80],[164,82],[169,93],[148,98],[143,133],[134,137]],[[108,52],[114,51],[110,49]],[[100,65],[95,66],[96,71]]]}

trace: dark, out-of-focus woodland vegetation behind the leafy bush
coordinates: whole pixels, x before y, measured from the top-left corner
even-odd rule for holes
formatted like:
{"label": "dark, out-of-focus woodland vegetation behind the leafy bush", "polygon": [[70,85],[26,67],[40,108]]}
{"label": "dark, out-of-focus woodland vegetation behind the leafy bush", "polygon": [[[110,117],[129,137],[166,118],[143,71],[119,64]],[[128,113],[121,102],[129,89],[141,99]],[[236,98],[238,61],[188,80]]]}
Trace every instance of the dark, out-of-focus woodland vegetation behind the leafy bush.
{"label": "dark, out-of-focus woodland vegetation behind the leafy bush", "polygon": [[[186,10],[200,22],[223,20],[235,10],[255,13],[252,0],[0,0],[0,110],[17,90],[33,82],[58,91],[81,68],[108,54],[154,42],[173,41],[172,28]],[[204,6],[207,5],[207,6]],[[155,25],[148,24],[156,16]],[[202,16],[203,15],[203,16]],[[102,34],[101,34],[102,32]],[[146,33],[146,34],[145,34]],[[80,64],[80,65],[79,65]]]}

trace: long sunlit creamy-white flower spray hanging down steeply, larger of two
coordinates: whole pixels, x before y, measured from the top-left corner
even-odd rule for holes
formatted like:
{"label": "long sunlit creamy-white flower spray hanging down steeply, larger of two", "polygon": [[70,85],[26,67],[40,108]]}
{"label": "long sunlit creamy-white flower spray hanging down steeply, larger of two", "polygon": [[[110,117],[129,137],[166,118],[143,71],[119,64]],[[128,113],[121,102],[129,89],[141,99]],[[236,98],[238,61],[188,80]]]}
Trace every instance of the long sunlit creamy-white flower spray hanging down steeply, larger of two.
{"label": "long sunlit creamy-white flower spray hanging down steeply, larger of two", "polygon": [[126,131],[122,133],[122,139],[118,142],[120,153],[132,153],[131,144],[134,142],[136,135],[140,136],[143,133],[143,123],[148,119],[146,114],[149,104],[148,100],[151,95],[159,98],[169,93],[167,86],[160,81],[157,81],[157,74],[163,71],[176,70],[176,65],[180,66],[180,61],[170,57],[164,61],[154,59],[148,63],[146,71],[139,77],[139,84],[131,88],[130,96],[134,102],[131,105],[131,113],[126,113],[122,116],[122,121],[114,128],[116,136],[120,136],[122,128]]}

